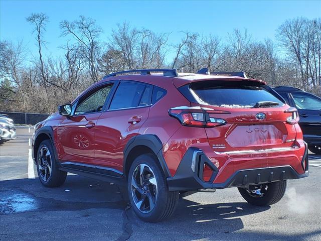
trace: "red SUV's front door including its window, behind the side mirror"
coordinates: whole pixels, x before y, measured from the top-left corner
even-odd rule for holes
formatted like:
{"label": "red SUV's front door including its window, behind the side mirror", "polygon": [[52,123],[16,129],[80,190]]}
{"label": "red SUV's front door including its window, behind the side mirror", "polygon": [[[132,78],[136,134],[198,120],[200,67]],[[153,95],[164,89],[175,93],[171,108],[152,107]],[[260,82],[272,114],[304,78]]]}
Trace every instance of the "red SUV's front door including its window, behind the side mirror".
{"label": "red SUV's front door including its window, behind the side mirror", "polygon": [[62,162],[94,164],[97,119],[102,113],[112,84],[100,86],[81,97],[70,117],[57,128],[57,149]]}

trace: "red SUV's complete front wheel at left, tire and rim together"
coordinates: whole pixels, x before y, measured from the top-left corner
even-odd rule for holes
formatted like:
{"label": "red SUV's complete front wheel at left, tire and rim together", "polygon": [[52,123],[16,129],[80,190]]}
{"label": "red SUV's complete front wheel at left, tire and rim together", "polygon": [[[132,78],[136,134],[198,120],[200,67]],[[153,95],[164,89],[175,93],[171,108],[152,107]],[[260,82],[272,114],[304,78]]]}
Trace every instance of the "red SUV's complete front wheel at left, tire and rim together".
{"label": "red SUV's complete front wheel at left, tire and rim together", "polygon": [[37,172],[40,182],[46,187],[59,187],[66,180],[67,172],[59,170],[49,140],[43,141],[38,148]]}

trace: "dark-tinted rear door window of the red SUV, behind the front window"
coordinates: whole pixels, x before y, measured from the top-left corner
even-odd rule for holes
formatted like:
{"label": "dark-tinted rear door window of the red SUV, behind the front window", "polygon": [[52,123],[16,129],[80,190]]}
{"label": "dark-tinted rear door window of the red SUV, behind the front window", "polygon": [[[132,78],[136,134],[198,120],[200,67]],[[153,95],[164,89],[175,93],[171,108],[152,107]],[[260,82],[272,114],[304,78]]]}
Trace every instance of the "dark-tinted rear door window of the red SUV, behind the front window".
{"label": "dark-tinted rear door window of the red SUV, behind the front window", "polygon": [[144,90],[145,85],[143,84],[121,82],[111,100],[109,109],[131,108],[137,107],[140,103],[144,104],[141,102]]}

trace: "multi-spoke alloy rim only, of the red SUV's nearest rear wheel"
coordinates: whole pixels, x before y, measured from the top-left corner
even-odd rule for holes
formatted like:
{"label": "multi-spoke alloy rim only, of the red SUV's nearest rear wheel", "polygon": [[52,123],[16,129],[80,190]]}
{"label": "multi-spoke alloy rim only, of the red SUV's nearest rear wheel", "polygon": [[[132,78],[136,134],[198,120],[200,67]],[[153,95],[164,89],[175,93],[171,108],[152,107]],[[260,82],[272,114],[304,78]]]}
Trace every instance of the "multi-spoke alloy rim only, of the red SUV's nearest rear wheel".
{"label": "multi-spoke alloy rim only, of the red SUV's nearest rear wheel", "polygon": [[143,213],[150,212],[157,200],[157,182],[151,168],[139,164],[131,177],[131,195],[137,209]]}

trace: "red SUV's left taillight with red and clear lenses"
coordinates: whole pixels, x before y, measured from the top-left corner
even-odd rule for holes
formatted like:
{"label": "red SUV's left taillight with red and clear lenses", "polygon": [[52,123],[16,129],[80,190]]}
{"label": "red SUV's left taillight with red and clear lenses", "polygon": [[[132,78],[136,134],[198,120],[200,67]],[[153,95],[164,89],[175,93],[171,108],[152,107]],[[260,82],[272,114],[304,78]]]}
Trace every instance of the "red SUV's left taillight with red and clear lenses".
{"label": "red SUV's left taillight with red and clear lenses", "polygon": [[[211,109],[209,112],[215,113],[215,110]],[[222,113],[222,111],[218,113]],[[212,128],[226,124],[224,119],[210,117],[207,110],[200,107],[171,108],[169,115],[177,118],[183,126]]]}

